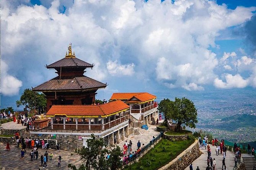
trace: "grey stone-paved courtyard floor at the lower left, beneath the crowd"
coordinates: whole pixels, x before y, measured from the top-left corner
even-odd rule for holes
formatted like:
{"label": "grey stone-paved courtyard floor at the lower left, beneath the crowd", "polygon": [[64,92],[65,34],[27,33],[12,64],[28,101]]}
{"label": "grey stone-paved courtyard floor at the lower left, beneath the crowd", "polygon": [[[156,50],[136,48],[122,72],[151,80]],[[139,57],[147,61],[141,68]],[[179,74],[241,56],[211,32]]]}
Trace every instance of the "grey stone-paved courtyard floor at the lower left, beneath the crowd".
{"label": "grey stone-paved courtyard floor at the lower left, beneath the crowd", "polygon": [[[11,150],[7,151],[5,148],[6,146],[1,143],[0,146],[0,170],[54,170],[54,169],[68,169],[68,164],[71,163],[73,165],[80,165],[82,161],[80,160],[80,156],[73,152],[67,151],[56,151],[54,149],[48,149],[47,152],[53,154],[52,160],[48,160],[47,168],[41,167],[41,155],[44,154],[45,149],[38,149],[39,157],[38,160],[30,160],[29,151],[31,152],[32,149],[27,149],[25,153],[25,159],[21,159],[21,152],[20,149],[16,148],[15,146],[10,146]],[[71,153],[74,155],[71,156]],[[58,168],[58,157],[61,156],[61,168]],[[48,155],[49,159],[49,155]],[[77,166],[78,167],[78,166]]]}

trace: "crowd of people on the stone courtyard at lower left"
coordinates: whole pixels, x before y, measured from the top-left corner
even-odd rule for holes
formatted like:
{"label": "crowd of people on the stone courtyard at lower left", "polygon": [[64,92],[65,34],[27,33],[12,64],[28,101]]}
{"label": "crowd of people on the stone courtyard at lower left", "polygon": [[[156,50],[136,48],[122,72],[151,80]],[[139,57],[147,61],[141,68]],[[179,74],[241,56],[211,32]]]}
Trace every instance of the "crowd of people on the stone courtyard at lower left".
{"label": "crowd of people on the stone courtyard at lower left", "polygon": [[[49,143],[44,142],[43,140],[39,139],[29,139],[29,138],[23,138],[22,136],[19,135],[18,132],[15,132],[15,139],[17,143],[17,148],[21,149],[21,159],[25,158],[25,153],[27,152],[26,149],[32,149],[31,152],[29,152],[30,160],[31,161],[37,161],[39,157],[39,148],[42,148],[40,150],[42,152],[41,154],[41,166],[43,168],[48,167],[47,162],[48,162],[48,152],[47,150],[49,149]],[[57,151],[59,151],[59,144],[56,144]],[[7,142],[6,144],[6,149],[7,151],[10,151],[10,144]],[[44,152],[45,150],[45,152]],[[50,160],[53,158],[53,154],[49,154]],[[60,168],[60,161],[61,161],[61,156],[58,158],[58,167]]]}

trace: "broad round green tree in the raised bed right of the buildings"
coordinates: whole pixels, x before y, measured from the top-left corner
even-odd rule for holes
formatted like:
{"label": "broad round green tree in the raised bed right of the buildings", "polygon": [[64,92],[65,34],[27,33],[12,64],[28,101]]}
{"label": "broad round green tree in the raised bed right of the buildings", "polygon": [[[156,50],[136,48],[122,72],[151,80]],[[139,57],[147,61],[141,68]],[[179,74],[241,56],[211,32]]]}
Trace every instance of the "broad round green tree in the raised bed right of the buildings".
{"label": "broad round green tree in the raised bed right of the buildings", "polygon": [[166,119],[173,119],[177,122],[175,131],[180,131],[183,123],[190,128],[196,128],[197,109],[191,100],[184,97],[175,98],[174,101],[163,99],[159,103],[158,109],[165,114]]}

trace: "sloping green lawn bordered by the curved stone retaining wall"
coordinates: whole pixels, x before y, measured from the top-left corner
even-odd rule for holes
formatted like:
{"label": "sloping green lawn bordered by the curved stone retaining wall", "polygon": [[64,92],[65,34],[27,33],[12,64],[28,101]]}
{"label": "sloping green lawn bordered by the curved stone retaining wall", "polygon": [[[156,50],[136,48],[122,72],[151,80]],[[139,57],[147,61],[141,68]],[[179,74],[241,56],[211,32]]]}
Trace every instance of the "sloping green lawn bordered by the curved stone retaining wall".
{"label": "sloping green lawn bordered by the curved stone retaining wall", "polygon": [[194,139],[175,142],[162,139],[142,156],[139,162],[129,165],[124,170],[139,170],[140,167],[143,167],[143,170],[156,170],[171,162],[192,143],[194,143]]}

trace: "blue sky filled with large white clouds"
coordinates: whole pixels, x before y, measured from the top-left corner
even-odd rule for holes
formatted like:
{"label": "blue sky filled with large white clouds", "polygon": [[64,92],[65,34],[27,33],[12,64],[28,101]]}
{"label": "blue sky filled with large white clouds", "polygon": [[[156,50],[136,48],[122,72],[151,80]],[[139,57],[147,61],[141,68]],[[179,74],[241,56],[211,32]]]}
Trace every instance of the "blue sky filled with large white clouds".
{"label": "blue sky filled with large white clouds", "polygon": [[[225,3],[225,4],[223,4]],[[256,1],[1,1],[1,106],[53,77],[68,44],[113,92],[256,90]],[[104,97],[103,97],[104,96]]]}

